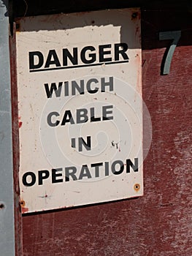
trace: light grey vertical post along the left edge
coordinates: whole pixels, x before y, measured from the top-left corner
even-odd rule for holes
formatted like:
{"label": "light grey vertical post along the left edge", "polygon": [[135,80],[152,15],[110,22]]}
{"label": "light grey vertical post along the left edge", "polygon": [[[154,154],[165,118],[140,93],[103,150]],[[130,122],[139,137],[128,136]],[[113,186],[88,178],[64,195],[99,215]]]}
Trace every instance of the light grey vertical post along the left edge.
{"label": "light grey vertical post along the left edge", "polygon": [[0,0],[0,255],[15,255],[8,0]]}

